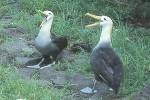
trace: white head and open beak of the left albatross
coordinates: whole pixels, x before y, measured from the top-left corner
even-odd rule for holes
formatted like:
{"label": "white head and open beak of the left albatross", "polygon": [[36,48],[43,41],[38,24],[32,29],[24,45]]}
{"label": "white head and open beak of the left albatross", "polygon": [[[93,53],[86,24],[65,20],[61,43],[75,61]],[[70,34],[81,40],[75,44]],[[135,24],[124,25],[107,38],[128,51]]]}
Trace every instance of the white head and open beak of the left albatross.
{"label": "white head and open beak of the left albatross", "polygon": [[53,14],[51,11],[48,11],[48,10],[46,10],[46,11],[40,11],[40,10],[39,10],[39,12],[42,13],[42,14],[45,16],[45,18],[43,19],[43,21],[42,21],[42,23],[41,23],[41,25],[40,25],[41,27],[42,27],[44,24],[46,24],[47,22],[53,20],[54,14]]}

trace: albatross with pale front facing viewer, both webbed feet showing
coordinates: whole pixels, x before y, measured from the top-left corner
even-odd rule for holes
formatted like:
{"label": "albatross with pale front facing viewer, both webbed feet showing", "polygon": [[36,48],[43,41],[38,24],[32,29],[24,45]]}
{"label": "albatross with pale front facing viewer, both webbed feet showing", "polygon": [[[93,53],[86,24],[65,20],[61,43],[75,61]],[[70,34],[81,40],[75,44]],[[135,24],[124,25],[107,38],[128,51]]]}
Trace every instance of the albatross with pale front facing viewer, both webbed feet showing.
{"label": "albatross with pale front facing viewer, both webbed feet showing", "polygon": [[[61,51],[67,47],[67,39],[65,37],[54,38],[51,35],[51,26],[54,14],[51,11],[39,11],[45,18],[41,23],[41,29],[38,36],[35,39],[35,47],[42,54],[40,62],[33,66],[26,66],[29,68],[45,68],[50,67],[56,61],[57,56]],[[37,59],[39,60],[39,59]],[[45,60],[51,60],[52,63],[41,67],[40,65],[45,62]],[[49,61],[50,62],[50,61]]]}

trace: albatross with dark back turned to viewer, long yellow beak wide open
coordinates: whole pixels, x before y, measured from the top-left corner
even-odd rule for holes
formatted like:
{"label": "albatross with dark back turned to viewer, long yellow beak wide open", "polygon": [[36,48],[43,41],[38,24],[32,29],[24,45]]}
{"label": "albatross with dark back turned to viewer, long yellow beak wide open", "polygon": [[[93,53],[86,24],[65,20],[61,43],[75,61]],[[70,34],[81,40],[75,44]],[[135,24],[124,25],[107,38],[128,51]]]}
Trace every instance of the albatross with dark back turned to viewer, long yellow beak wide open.
{"label": "albatross with dark back turned to viewer, long yellow beak wide open", "polygon": [[94,80],[93,88],[90,89],[91,93],[95,91],[96,81],[101,81],[107,84],[117,94],[123,78],[123,64],[111,44],[113,22],[108,16],[96,16],[90,13],[86,13],[86,16],[100,21],[87,25],[86,27],[93,27],[99,24],[102,27],[100,40],[93,48],[90,57],[90,64],[96,79]]}

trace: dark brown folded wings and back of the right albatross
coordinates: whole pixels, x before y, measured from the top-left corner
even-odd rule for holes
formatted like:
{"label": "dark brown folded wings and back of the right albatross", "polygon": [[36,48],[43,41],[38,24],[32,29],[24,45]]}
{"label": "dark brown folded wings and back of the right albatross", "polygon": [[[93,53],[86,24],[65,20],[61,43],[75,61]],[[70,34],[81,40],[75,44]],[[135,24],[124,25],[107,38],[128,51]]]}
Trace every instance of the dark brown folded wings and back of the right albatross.
{"label": "dark brown folded wings and back of the right albatross", "polygon": [[98,81],[118,92],[123,77],[123,64],[112,48],[96,48],[91,54],[91,66]]}

